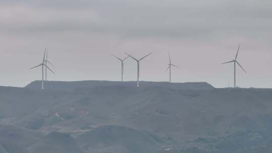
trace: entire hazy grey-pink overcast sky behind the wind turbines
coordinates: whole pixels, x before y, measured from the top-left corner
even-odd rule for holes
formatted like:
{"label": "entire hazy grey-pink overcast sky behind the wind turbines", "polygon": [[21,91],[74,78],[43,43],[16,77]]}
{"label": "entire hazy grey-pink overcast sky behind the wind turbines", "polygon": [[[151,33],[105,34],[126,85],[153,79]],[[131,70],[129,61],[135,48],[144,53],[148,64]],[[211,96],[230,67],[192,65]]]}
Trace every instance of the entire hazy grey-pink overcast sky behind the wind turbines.
{"label": "entire hazy grey-pink overcast sky behind the wind turbines", "polygon": [[[232,60],[238,44],[237,86],[272,88],[271,0],[1,0],[0,86],[24,87],[41,80],[48,47],[55,64],[53,81],[120,80],[113,53],[142,57],[141,81],[168,81],[168,51],[173,82],[233,86]],[[127,59],[124,80],[137,79],[137,64]]]}

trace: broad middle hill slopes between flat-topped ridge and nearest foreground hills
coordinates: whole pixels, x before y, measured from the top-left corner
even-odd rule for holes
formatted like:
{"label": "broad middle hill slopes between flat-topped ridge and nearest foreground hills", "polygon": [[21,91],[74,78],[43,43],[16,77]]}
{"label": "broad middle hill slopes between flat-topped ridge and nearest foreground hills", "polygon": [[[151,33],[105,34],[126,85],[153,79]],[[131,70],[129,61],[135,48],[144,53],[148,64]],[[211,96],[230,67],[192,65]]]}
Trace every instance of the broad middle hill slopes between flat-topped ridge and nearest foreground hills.
{"label": "broad middle hill slopes between flat-topped ridge and nearest foreground hills", "polygon": [[113,124],[185,140],[257,129],[272,116],[271,89],[103,85],[70,92],[4,87],[0,91],[0,121],[49,132]]}

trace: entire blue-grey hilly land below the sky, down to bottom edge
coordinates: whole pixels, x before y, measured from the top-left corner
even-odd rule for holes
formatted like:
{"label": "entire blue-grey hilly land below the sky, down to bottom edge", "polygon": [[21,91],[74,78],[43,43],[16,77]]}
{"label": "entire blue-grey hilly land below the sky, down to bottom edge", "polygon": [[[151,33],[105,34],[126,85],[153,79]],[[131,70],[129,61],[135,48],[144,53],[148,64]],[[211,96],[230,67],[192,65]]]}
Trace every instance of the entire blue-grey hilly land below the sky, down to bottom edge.
{"label": "entire blue-grey hilly land below the sky, down to bottom edge", "polygon": [[272,89],[215,89],[207,83],[142,83],[138,89],[91,81],[90,87],[59,82],[41,91],[30,88],[36,83],[0,87],[0,134],[8,129],[16,135],[0,136],[29,152],[272,150]]}

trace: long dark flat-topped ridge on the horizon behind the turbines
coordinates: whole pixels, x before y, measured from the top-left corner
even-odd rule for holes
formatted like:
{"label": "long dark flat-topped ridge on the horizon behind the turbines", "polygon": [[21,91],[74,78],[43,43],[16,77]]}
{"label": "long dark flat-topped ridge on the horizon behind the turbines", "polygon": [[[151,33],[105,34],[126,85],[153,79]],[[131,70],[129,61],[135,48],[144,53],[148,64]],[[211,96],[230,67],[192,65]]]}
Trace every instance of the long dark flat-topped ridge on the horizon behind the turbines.
{"label": "long dark flat-topped ridge on the horizon behind the turbines", "polygon": [[[93,89],[101,86],[124,86],[136,87],[136,82],[113,82],[113,81],[76,81],[76,82],[60,82],[45,81],[44,87],[48,90],[74,90],[81,88]],[[172,89],[213,89],[214,87],[208,83],[168,83],[168,82],[140,82],[140,88],[147,87],[164,87]],[[27,85],[28,89],[41,89],[41,81],[34,81]]]}

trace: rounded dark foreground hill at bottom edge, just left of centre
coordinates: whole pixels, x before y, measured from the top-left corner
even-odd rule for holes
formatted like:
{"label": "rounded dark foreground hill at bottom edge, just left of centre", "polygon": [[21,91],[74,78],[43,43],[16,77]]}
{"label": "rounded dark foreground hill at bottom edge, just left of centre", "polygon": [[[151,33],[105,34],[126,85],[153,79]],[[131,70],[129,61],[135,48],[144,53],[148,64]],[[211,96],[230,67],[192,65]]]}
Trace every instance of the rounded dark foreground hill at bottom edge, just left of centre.
{"label": "rounded dark foreground hill at bottom edge, just left of centre", "polygon": [[83,133],[78,142],[89,152],[157,152],[162,140],[145,131],[106,125]]}

